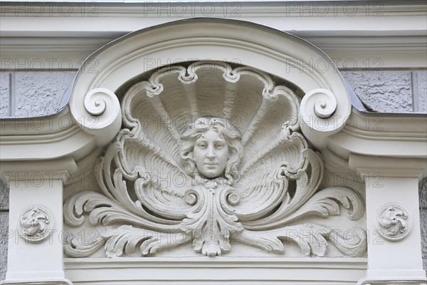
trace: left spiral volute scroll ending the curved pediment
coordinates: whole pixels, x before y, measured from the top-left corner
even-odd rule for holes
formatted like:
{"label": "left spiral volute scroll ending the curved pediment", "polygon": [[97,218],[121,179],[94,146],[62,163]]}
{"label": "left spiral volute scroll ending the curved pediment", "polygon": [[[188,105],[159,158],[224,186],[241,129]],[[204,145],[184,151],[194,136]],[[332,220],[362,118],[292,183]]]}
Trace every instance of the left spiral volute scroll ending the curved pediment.
{"label": "left spiral volute scroll ending the curved pediment", "polygon": [[72,108],[73,116],[86,133],[95,135],[97,143],[104,145],[120,130],[122,115],[120,103],[112,90],[94,88],[86,93],[84,108]]}

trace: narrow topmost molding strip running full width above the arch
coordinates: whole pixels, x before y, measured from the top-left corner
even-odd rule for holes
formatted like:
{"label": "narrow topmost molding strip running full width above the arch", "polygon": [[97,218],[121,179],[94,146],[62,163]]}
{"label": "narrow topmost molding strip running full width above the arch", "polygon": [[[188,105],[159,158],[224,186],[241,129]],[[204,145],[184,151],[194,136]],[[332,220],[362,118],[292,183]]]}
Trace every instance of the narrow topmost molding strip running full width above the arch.
{"label": "narrow topmost molding strip running full width above the arch", "polygon": [[[21,3],[20,3],[21,2]],[[61,3],[62,2],[62,3]],[[304,3],[305,2],[305,3]],[[67,9],[65,8],[73,8]],[[209,10],[208,10],[209,9]],[[135,16],[158,18],[169,16],[229,17],[339,17],[339,16],[423,16],[423,1],[90,1],[41,3],[38,1],[4,1],[1,16]],[[19,14],[16,14],[18,13]],[[176,19],[174,19],[176,20]]]}

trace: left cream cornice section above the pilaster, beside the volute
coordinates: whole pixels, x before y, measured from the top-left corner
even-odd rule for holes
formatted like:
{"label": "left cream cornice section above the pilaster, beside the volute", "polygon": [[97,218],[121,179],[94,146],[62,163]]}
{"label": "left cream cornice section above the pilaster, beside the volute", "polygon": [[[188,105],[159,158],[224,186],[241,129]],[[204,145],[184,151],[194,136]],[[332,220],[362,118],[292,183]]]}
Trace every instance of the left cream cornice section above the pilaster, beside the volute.
{"label": "left cream cornice section above the pilaster, beside the volute", "polygon": [[0,120],[0,130],[4,170],[9,168],[6,163],[22,164],[27,161],[28,165],[31,161],[55,160],[65,156],[80,160],[95,148],[93,136],[78,128],[68,108],[48,117],[3,119]]}

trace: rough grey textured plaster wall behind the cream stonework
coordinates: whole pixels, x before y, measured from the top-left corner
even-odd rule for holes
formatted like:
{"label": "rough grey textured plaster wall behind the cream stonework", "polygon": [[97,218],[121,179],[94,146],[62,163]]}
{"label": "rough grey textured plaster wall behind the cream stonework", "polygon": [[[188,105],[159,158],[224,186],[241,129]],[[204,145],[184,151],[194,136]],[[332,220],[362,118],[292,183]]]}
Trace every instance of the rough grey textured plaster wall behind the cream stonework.
{"label": "rough grey textured plaster wall behind the cream stonework", "polygon": [[[427,71],[342,71],[342,75],[371,111],[427,113]],[[0,73],[0,117],[56,113],[74,76],[75,72]],[[420,214],[427,269],[427,179],[420,182]],[[6,273],[8,227],[9,189],[0,182],[0,280]]]}

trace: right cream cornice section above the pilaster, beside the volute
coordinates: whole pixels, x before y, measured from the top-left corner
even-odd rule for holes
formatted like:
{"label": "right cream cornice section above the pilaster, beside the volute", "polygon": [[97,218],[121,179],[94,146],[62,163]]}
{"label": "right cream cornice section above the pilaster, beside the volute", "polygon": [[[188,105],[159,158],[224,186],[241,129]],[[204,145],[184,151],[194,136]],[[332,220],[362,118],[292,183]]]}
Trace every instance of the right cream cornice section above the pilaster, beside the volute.
{"label": "right cream cornice section above the pilaster, beside the volute", "polygon": [[328,141],[328,148],[344,159],[350,153],[426,158],[426,145],[426,115],[368,113],[355,108],[342,132]]}

